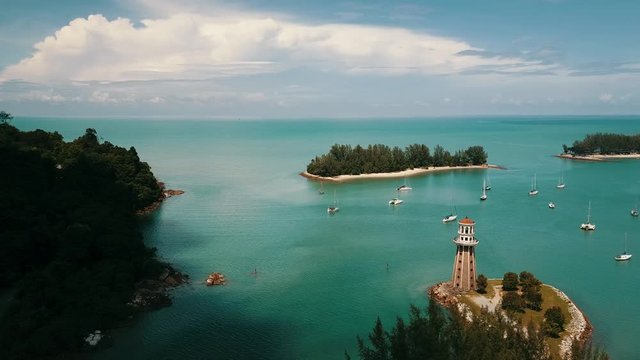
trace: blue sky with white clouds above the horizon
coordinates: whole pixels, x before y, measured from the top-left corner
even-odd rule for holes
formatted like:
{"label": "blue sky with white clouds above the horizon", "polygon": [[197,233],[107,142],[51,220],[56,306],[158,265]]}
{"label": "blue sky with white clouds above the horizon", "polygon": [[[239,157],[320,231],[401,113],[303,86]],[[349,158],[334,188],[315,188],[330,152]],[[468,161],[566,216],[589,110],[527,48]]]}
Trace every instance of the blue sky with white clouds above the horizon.
{"label": "blue sky with white clouds above the horizon", "polygon": [[636,0],[0,0],[14,116],[640,114]]}

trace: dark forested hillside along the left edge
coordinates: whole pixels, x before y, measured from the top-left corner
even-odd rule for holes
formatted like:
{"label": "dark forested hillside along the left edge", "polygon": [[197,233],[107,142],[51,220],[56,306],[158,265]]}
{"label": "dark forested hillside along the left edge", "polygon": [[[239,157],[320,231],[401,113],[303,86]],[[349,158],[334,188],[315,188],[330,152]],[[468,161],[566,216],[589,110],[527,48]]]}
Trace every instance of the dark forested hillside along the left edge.
{"label": "dark forested hillside along the left edge", "polygon": [[[5,113],[6,114],[6,113]],[[136,150],[65,142],[0,122],[0,358],[69,358],[90,331],[134,311],[135,284],[164,264],[136,211],[162,194]]]}

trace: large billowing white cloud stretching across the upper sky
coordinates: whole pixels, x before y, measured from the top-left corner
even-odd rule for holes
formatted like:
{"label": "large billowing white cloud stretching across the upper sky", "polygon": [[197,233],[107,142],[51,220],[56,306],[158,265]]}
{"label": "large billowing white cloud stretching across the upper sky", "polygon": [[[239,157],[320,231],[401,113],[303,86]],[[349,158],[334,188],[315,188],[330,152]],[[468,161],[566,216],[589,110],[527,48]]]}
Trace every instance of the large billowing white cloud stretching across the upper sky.
{"label": "large billowing white cloud stretching across the upper sky", "polygon": [[[477,55],[464,54],[477,51]],[[310,67],[354,74],[540,71],[541,62],[398,27],[305,25],[258,14],[178,13],[141,24],[78,18],[35,45],[0,78],[34,82],[202,79]]]}

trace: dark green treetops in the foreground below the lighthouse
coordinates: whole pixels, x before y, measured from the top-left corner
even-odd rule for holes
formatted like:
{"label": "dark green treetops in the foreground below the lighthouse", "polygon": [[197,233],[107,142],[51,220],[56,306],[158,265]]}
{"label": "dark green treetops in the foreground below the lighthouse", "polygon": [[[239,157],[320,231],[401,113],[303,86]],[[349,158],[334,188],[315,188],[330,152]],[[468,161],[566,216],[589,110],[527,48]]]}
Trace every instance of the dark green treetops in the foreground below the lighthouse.
{"label": "dark green treetops in the foreground below the lighthouse", "polygon": [[[368,345],[358,337],[363,360],[545,360],[552,359],[544,335],[529,324],[514,323],[500,313],[483,309],[469,321],[458,307],[443,308],[433,300],[423,314],[411,306],[409,320],[396,319],[386,331],[378,318]],[[590,343],[575,342],[567,360],[607,360]],[[349,355],[346,354],[349,358]]]}

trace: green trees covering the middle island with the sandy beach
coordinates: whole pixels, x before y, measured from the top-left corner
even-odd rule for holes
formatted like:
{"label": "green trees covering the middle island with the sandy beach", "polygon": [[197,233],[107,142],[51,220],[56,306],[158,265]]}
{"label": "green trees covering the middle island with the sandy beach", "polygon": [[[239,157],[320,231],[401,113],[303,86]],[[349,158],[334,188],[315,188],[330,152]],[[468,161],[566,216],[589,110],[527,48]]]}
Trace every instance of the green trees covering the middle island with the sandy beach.
{"label": "green trees covering the middle island with the sandy beach", "polygon": [[440,145],[436,145],[431,154],[429,147],[424,144],[412,144],[404,150],[382,144],[369,145],[367,148],[335,144],[327,154],[312,159],[307,165],[307,172],[319,176],[359,175],[429,166],[482,165],[486,162],[487,153],[482,146],[471,146],[451,155]]}

